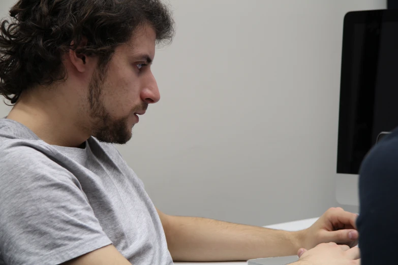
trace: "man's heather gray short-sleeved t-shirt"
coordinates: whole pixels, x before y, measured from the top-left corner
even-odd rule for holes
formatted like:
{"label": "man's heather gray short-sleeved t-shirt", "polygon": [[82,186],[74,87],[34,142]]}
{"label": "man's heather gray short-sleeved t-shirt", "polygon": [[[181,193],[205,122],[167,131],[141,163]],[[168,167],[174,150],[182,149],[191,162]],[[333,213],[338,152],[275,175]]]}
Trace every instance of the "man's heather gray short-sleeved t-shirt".
{"label": "man's heather gray short-sleeved t-shirt", "polygon": [[46,144],[0,119],[0,265],[59,264],[113,244],[132,264],[172,264],[159,215],[116,148]]}

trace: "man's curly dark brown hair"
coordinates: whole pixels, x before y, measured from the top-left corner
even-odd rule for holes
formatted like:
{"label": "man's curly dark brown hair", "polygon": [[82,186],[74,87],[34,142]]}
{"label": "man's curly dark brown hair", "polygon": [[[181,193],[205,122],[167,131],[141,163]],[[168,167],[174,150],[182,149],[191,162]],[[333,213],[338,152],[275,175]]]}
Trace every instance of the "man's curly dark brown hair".
{"label": "man's curly dark brown hair", "polygon": [[172,41],[174,21],[161,0],[19,0],[1,21],[0,95],[15,104],[26,89],[64,80],[62,56],[70,49],[99,56],[104,67],[144,24],[158,44]]}

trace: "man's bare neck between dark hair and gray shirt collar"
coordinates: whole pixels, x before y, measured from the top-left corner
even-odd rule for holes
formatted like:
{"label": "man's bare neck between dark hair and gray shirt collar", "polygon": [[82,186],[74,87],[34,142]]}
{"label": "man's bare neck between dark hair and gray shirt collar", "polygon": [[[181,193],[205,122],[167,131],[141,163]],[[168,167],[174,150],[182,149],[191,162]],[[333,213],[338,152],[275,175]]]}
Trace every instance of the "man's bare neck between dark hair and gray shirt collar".
{"label": "man's bare neck between dark hair and gray shirt collar", "polygon": [[90,137],[89,130],[81,126],[77,98],[62,95],[54,89],[35,88],[21,94],[18,102],[7,116],[32,130],[41,140],[50,144],[79,147]]}

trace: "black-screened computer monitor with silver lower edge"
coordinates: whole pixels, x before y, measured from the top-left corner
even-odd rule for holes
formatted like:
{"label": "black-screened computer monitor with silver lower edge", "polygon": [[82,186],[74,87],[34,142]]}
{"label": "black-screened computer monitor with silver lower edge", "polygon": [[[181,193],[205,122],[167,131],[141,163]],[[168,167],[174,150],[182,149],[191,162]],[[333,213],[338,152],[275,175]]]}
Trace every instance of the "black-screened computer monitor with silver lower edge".
{"label": "black-screened computer monitor with silver lower edge", "polygon": [[398,126],[398,10],[344,18],[336,199],[358,205],[358,172],[381,132]]}

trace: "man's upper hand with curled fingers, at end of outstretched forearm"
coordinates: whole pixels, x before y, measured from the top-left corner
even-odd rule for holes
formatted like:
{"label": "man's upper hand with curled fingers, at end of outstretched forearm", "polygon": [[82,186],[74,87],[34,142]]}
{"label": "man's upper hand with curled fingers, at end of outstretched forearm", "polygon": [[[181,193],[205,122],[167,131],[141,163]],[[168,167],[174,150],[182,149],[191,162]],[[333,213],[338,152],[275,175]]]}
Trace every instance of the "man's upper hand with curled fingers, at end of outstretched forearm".
{"label": "man's upper hand with curled fingers, at end of outstretched forearm", "polygon": [[342,208],[330,208],[311,227],[302,231],[301,246],[311,249],[321,243],[335,242],[349,247],[358,244],[356,218]]}

